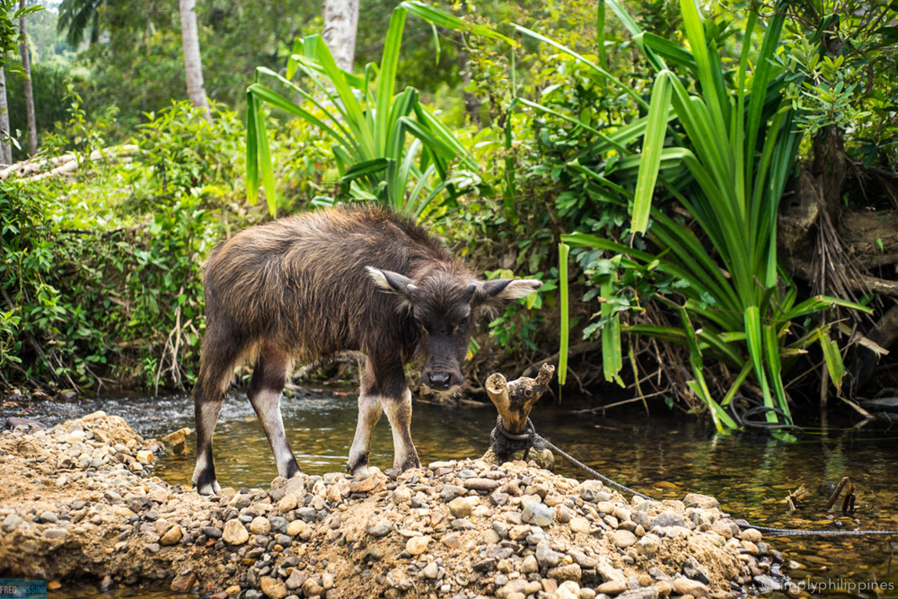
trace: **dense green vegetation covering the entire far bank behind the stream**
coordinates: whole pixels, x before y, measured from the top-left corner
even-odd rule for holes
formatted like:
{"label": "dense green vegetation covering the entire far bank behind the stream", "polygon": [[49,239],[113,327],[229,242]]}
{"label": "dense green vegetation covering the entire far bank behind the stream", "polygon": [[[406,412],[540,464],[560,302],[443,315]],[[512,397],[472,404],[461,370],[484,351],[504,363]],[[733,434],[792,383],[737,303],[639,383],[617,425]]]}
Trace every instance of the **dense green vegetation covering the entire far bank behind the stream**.
{"label": "dense green vegetation covering the entire far bank behind the stream", "polygon": [[[478,337],[475,382],[556,355],[575,387],[720,428],[740,396],[788,423],[828,388],[896,384],[878,356],[898,337],[893,4],[372,0],[352,73],[308,3],[286,4],[200,4],[210,120],[179,100],[162,6],[102,4],[77,52],[45,36],[41,152],[78,166],[0,181],[7,383],[188,386],[209,248],[366,200],[489,277],[544,281]],[[840,227],[871,213],[866,243]]]}

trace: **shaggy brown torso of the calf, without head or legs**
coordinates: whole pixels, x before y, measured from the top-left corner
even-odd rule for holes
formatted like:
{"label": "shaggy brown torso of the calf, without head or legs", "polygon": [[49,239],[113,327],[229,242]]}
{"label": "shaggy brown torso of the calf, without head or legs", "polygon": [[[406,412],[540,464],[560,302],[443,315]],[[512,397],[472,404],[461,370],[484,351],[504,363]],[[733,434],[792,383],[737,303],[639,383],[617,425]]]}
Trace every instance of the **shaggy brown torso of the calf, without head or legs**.
{"label": "shaggy brown torso of the calf, without head or legs", "polygon": [[272,344],[302,361],[347,350],[418,350],[419,328],[365,267],[474,280],[441,242],[377,207],[326,209],[235,234],[207,261],[205,343]]}

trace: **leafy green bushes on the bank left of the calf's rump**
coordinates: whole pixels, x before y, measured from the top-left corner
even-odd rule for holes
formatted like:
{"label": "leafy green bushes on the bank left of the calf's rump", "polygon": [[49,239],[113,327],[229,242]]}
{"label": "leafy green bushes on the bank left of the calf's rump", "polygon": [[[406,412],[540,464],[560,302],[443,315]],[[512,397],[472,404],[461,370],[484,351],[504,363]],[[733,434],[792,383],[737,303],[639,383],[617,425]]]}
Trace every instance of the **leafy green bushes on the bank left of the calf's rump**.
{"label": "leafy green bushes on the bank left of the calf's rump", "polygon": [[242,196],[242,123],[172,104],[133,140],[134,162],[86,160],[95,139],[77,99],[75,181],[0,185],[0,366],[61,387],[173,386],[198,372],[207,251],[253,217]]}

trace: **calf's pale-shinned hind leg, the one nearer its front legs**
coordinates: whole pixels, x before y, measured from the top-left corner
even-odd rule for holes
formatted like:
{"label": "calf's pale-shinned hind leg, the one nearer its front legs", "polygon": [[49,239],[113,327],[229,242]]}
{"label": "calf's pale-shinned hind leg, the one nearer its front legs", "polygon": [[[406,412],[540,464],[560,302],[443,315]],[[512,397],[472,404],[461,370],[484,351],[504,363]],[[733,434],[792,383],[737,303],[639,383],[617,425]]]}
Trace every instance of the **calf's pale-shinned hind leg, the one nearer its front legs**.
{"label": "calf's pale-shinned hind leg, the one nearer its front legs", "polygon": [[280,412],[280,396],[284,390],[289,366],[289,357],[276,348],[263,347],[259,360],[252,370],[250,387],[246,392],[252,409],[256,410],[265,436],[269,437],[271,453],[274,454],[277,463],[277,473],[286,479],[299,471],[293,451],[286,441],[284,419],[281,418]]}

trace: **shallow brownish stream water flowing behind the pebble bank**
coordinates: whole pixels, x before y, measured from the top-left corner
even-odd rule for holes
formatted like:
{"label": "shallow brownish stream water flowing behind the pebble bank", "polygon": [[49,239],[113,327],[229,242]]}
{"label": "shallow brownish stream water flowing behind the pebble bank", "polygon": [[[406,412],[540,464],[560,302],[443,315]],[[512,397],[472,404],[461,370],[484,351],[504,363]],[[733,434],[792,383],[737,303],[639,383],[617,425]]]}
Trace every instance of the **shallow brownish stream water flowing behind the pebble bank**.
{"label": "shallow brownish stream water flowing behind the pebble bank", "polygon": [[[713,495],[721,507],[753,524],[797,529],[898,529],[898,427],[872,423],[858,429],[814,428],[785,444],[767,436],[721,436],[696,418],[664,407],[651,416],[633,408],[603,417],[577,410],[583,402],[552,404],[543,399],[533,422],[543,436],[614,480],[655,498],[682,499],[690,491]],[[588,405],[588,404],[587,404]],[[633,404],[634,406],[638,404]],[[48,424],[94,410],[119,414],[143,436],[163,436],[193,426],[187,395],[102,399],[31,405],[29,418]],[[321,474],[342,470],[356,426],[356,396],[347,390],[304,392],[282,409],[287,435],[300,467]],[[489,443],[496,412],[491,406],[453,407],[416,401],[412,436],[422,462],[476,457]],[[850,420],[850,415],[846,416]],[[192,440],[193,437],[191,437]],[[267,486],[277,475],[268,441],[245,396],[225,402],[215,437],[216,469],[223,487]],[[374,432],[371,463],[392,465],[392,437],[386,418]],[[188,485],[193,454],[165,456],[155,474]],[[559,459],[559,472],[585,475]],[[841,500],[829,513],[823,505],[843,476],[856,486],[856,513],[842,515]],[[804,485],[808,495],[792,515],[785,499]],[[784,559],[801,565],[788,571],[812,596],[898,596],[898,536],[770,538]],[[877,594],[872,586],[885,586]],[[768,594],[779,595],[779,594]],[[101,595],[92,587],[64,587],[56,599],[160,599],[156,589],[122,589]]]}

